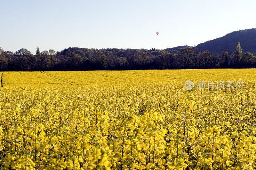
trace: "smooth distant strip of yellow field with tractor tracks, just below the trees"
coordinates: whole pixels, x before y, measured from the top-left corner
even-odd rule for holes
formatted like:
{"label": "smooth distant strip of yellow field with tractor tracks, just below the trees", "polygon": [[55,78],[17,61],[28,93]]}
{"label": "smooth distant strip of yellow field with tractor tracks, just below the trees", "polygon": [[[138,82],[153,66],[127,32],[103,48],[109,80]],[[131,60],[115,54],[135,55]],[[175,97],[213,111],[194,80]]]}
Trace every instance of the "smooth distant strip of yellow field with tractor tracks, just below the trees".
{"label": "smooth distant strip of yellow field with tractor tracks, just below the trees", "polygon": [[255,79],[256,69],[123,70],[123,71],[5,71],[4,87],[164,83],[186,80]]}

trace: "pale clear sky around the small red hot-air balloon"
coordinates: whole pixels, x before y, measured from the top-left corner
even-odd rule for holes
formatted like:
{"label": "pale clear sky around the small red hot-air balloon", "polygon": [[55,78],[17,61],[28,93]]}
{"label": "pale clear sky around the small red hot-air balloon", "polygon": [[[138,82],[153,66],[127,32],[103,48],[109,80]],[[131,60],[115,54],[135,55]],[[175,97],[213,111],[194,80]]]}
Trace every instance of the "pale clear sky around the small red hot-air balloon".
{"label": "pale clear sky around the small red hot-air balloon", "polygon": [[256,28],[255,7],[255,0],[0,0],[0,47],[35,54],[37,47],[193,46]]}

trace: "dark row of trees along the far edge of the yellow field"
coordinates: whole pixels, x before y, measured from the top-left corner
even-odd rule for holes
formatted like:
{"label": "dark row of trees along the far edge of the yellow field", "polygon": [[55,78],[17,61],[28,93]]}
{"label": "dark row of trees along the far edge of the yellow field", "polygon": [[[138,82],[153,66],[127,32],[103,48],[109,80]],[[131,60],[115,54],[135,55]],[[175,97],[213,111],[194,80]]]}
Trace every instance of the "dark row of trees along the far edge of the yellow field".
{"label": "dark row of trees along the far edge of the yellow field", "polygon": [[95,49],[66,48],[36,49],[32,55],[21,48],[15,53],[0,48],[0,70],[136,70],[136,69],[208,69],[255,68],[256,56],[244,53],[240,43],[233,54],[223,51],[217,55],[211,51],[199,51],[186,47],[179,51],[159,49]]}

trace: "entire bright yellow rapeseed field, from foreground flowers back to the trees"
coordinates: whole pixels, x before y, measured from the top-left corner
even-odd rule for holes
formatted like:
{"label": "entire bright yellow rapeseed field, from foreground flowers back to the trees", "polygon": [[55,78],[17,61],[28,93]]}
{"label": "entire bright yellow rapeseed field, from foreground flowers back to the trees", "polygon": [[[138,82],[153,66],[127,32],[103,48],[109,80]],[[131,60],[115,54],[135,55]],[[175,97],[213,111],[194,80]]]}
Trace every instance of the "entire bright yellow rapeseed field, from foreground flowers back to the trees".
{"label": "entire bright yellow rapeseed field, from foreground flowers back to the trees", "polygon": [[1,72],[0,168],[255,169],[255,71]]}

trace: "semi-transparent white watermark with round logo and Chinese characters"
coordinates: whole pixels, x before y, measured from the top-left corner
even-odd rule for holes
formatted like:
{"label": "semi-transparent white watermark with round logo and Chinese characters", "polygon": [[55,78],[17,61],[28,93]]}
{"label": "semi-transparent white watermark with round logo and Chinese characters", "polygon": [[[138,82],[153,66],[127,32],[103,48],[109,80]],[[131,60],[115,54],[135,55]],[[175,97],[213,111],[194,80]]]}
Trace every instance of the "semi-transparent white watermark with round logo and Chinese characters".
{"label": "semi-transparent white watermark with round logo and Chinese characters", "polygon": [[232,89],[243,89],[244,87],[244,81],[198,81],[197,85],[195,86],[195,83],[191,80],[186,80],[185,82],[185,88],[186,90],[191,90],[194,87],[196,89],[226,89],[226,90],[232,90]]}

